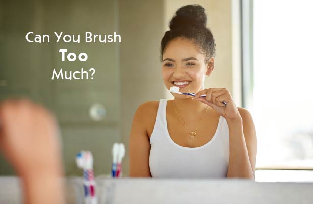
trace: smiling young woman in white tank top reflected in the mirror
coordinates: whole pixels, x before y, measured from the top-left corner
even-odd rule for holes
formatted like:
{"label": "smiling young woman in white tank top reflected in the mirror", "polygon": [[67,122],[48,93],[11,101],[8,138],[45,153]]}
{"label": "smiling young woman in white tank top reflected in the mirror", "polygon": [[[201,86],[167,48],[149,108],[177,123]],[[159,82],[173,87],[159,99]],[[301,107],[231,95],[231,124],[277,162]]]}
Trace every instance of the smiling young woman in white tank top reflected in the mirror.
{"label": "smiling young woman in white tank top reflected in the mirror", "polygon": [[[199,5],[176,11],[161,41],[163,81],[172,93],[140,105],[130,136],[132,177],[254,179],[256,132],[250,113],[226,88],[204,87],[214,70],[215,41]],[[206,97],[199,97],[206,94]]]}

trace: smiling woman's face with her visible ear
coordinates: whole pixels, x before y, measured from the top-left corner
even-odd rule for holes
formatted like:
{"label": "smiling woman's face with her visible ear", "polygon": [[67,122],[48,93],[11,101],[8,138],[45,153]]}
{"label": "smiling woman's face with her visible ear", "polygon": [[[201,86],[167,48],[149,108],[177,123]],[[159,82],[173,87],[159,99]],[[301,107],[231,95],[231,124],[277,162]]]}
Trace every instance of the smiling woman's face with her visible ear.
{"label": "smiling woman's face with her visible ear", "polygon": [[[191,40],[177,38],[170,41],[162,59],[162,75],[166,88],[178,86],[180,92],[192,93],[203,90],[205,75],[210,75],[213,70],[213,58],[210,62],[205,63],[205,56]],[[192,97],[172,94],[177,98]]]}

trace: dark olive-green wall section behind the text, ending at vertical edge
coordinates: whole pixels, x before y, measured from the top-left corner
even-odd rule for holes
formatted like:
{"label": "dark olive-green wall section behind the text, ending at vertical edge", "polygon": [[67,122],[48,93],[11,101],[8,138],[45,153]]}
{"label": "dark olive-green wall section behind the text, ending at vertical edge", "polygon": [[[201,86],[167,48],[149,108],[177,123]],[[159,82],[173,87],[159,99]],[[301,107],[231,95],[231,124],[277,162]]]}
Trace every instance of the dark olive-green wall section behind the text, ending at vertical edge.
{"label": "dark olive-green wall section behind the text, ending at vertical edge", "polygon": [[[111,146],[121,140],[119,44],[84,43],[84,36],[85,31],[118,31],[117,1],[6,1],[1,7],[0,80],[5,83],[0,86],[0,99],[26,96],[55,113],[62,131],[67,175],[81,175],[75,155],[83,149],[91,150],[97,161],[95,174],[110,173]],[[29,31],[49,34],[50,42],[27,42],[25,35]],[[56,43],[54,31],[81,34],[81,43]],[[62,62],[59,49],[87,53],[88,60]],[[93,80],[51,80],[54,68],[95,68],[96,72]],[[106,107],[103,121],[90,118],[93,103]],[[12,173],[1,159],[0,174]]]}

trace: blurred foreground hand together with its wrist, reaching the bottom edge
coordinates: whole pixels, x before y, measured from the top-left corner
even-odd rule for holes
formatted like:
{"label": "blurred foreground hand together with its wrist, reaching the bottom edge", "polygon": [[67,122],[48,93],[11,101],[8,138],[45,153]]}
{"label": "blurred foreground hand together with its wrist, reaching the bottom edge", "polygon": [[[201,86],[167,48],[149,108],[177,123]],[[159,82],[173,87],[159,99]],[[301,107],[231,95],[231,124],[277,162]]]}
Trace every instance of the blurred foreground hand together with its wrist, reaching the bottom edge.
{"label": "blurred foreground hand together with its wrist, reaching the bottom edge", "polygon": [[29,100],[0,103],[0,151],[23,179],[24,203],[65,203],[57,121]]}

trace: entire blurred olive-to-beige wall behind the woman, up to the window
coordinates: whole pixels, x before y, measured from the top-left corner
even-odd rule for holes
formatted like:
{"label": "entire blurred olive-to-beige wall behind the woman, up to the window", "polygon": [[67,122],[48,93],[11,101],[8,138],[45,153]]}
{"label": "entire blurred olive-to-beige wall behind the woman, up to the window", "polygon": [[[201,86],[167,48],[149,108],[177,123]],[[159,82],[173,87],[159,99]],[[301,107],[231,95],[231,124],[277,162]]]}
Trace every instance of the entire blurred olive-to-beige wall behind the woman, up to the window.
{"label": "entire blurred olive-to-beige wall behind the woman, up to the window", "polygon": [[[96,175],[109,174],[111,148],[123,142],[128,175],[128,137],[137,107],[148,100],[171,98],[161,75],[160,43],[168,22],[181,6],[205,7],[208,27],[217,44],[215,70],[206,87],[226,87],[237,106],[240,96],[233,84],[233,22],[231,0],[218,1],[0,1],[0,99],[28,97],[57,116],[63,142],[66,175],[81,175],[75,155],[90,150]],[[29,43],[25,34],[49,34],[50,43]],[[121,43],[55,43],[54,31],[64,34],[121,35]],[[239,39],[238,39],[239,40]],[[82,38],[81,41],[84,41]],[[62,62],[59,49],[88,54],[86,62]],[[95,68],[93,80],[51,80],[54,68]],[[89,116],[92,104],[106,107],[102,121]],[[14,171],[0,158],[0,174]]]}

